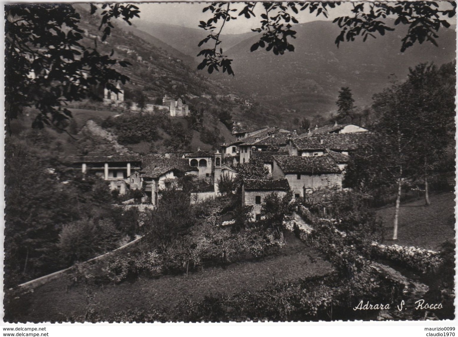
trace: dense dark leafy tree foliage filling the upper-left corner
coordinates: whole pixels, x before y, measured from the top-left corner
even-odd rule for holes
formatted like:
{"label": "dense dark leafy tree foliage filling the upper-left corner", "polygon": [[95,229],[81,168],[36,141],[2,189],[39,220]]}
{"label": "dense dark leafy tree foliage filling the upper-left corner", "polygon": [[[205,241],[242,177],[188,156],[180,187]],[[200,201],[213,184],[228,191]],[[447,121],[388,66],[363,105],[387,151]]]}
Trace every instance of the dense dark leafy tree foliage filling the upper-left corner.
{"label": "dense dark leafy tree foliage filling the upper-left corner", "polygon": [[[104,4],[102,23],[105,40],[114,26],[112,18],[128,23],[138,16],[134,5]],[[92,13],[97,8],[92,5]],[[33,127],[63,128],[71,118],[67,102],[100,99],[95,86],[119,92],[114,83],[128,76],[116,65],[126,67],[95,48],[82,44],[81,16],[70,4],[16,4],[5,6],[5,110],[6,124],[26,107],[38,109]]]}

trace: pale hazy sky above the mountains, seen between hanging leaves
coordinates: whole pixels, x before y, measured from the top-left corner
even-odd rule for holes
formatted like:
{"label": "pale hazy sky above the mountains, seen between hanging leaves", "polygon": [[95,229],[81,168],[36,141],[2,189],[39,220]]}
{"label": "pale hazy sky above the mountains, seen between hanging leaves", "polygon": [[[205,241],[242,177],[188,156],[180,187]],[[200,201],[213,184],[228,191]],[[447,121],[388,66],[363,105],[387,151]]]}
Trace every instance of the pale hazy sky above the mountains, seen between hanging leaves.
{"label": "pale hazy sky above the mountains, seen between hanging leaves", "polygon": [[[158,23],[168,23],[178,26],[185,26],[190,28],[200,29],[198,27],[199,21],[209,19],[211,14],[209,12],[202,13],[202,9],[208,6],[209,3],[204,2],[168,2],[168,3],[141,3],[138,4],[141,10],[141,19],[146,21],[158,22]],[[241,10],[244,6],[243,3],[234,3],[231,4],[232,8],[237,8]],[[349,13],[351,8],[350,3],[344,3],[340,6],[340,11],[344,10],[346,13]],[[224,33],[245,33],[249,32],[251,28],[256,28],[259,26],[259,14],[261,13],[261,4],[256,5],[255,14],[257,20],[247,20],[244,16],[239,16],[237,20],[230,21],[224,26]],[[258,8],[258,10],[256,10]],[[337,9],[334,9],[330,19],[338,16]],[[326,20],[326,18],[320,15],[318,18],[315,14],[307,13],[308,10],[300,11],[295,17],[299,20],[300,23],[310,22],[313,20]],[[235,13],[235,12],[234,12]],[[238,14],[238,12],[236,12]],[[136,19],[138,20],[138,19]],[[257,21],[257,22],[256,22]],[[135,21],[133,21],[135,23]]]}

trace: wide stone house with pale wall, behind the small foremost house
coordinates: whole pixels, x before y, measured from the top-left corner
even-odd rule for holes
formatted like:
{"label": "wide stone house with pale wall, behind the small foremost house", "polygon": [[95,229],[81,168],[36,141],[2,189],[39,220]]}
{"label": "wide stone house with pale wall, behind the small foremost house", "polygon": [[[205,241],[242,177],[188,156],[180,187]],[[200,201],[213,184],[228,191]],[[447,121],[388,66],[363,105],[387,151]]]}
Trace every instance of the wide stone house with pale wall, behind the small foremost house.
{"label": "wide stone house with pale wall, behind the small foremost house", "polygon": [[342,172],[329,155],[316,157],[273,155],[273,179],[288,179],[295,198],[322,187],[342,187]]}

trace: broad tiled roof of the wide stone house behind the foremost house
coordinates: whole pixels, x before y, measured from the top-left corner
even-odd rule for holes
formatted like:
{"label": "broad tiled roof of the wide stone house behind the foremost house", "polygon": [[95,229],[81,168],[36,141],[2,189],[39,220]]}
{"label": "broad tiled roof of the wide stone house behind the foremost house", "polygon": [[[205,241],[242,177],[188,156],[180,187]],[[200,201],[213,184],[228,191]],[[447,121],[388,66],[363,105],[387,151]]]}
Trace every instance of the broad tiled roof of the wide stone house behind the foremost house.
{"label": "broad tiled roof of the wide stone house behind the foremost house", "polygon": [[298,157],[273,156],[284,174],[289,173],[340,173],[336,162],[330,156]]}

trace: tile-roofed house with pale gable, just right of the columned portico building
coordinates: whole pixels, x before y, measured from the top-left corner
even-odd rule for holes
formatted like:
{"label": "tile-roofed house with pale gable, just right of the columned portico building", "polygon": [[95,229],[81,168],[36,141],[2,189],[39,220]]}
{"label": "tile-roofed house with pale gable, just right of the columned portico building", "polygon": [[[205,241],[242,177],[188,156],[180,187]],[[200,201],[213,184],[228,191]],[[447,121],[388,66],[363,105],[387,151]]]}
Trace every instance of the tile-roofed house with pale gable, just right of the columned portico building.
{"label": "tile-roofed house with pale gable, just right of the columned portico building", "polygon": [[161,190],[176,187],[176,179],[186,174],[197,173],[188,159],[147,155],[142,157],[142,168],[129,176],[129,183],[132,189],[144,188],[152,205],[157,206]]}

